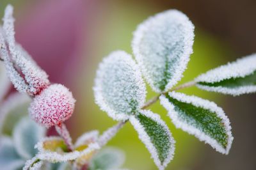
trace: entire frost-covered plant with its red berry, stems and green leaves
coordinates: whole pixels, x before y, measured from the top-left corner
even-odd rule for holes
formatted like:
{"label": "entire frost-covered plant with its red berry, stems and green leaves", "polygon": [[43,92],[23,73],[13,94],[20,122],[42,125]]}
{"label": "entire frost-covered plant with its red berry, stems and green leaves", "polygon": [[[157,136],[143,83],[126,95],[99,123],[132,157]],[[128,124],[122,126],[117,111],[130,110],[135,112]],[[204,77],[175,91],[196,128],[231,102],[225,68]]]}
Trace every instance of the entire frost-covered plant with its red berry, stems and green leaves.
{"label": "entire frost-covered plant with its red berry, stems and green leaves", "polygon": [[[97,70],[93,88],[95,102],[119,122],[102,135],[97,130],[86,132],[73,144],[63,123],[74,111],[72,93],[61,84],[51,84],[44,70],[15,42],[12,11],[12,6],[6,7],[0,30],[1,60],[15,88],[32,98],[28,109],[32,120],[46,128],[54,126],[60,134],[60,137],[40,139],[35,145],[38,152],[32,158],[24,150],[29,148],[26,147],[28,144],[19,143],[18,148],[23,150],[17,149],[18,153],[30,158],[23,169],[51,169],[54,164],[49,163],[58,162],[63,162],[60,169],[119,169],[124,162],[122,152],[113,148],[102,150],[102,147],[127,122],[131,122],[138,132],[158,169],[165,169],[173,158],[175,140],[159,114],[147,109],[157,100],[168,111],[175,127],[195,135],[216,151],[228,154],[234,137],[223,109],[214,102],[177,90],[197,86],[234,96],[253,93],[256,91],[256,54],[175,87],[193,52],[194,26],[184,13],[177,10],[150,17],[134,32],[132,50],[135,60],[130,54],[117,50],[104,58]],[[148,102],[145,101],[147,91],[143,77],[158,93]],[[22,121],[17,125],[24,125]],[[25,140],[25,134],[26,130],[19,133],[17,140]]]}

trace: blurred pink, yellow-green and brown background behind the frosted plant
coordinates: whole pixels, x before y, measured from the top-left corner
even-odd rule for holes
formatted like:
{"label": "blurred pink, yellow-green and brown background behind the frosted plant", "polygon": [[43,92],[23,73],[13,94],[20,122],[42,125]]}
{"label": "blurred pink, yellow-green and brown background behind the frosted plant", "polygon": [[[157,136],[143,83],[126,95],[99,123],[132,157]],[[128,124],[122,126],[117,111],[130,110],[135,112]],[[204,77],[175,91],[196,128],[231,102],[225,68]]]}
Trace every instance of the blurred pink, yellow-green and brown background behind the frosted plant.
{"label": "blurred pink, yellow-green and brown background behind the frosted plant", "polygon": [[[131,53],[132,32],[150,15],[175,8],[195,24],[194,53],[182,82],[236,58],[256,52],[255,0],[0,0],[15,7],[16,38],[50,75],[65,84],[76,98],[76,111],[67,121],[72,137],[84,131],[100,132],[115,125],[94,103],[93,79],[99,62],[117,49]],[[148,88],[148,98],[154,94]],[[234,143],[225,156],[192,135],[177,130],[166,111],[150,109],[166,121],[177,141],[175,157],[166,169],[256,169],[256,95],[228,97],[196,88],[182,90],[223,107],[232,123]],[[54,132],[53,132],[54,133]],[[108,144],[125,151],[125,166],[134,170],[156,169],[132,126],[125,125]]]}

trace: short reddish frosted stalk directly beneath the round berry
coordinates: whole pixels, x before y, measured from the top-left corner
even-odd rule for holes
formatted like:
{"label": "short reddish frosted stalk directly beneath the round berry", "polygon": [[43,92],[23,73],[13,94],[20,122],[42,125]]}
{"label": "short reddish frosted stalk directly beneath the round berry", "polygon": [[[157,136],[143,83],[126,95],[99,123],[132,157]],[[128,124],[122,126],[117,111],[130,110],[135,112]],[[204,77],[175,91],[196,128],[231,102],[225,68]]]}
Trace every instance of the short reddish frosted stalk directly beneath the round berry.
{"label": "short reddish frosted stalk directly beneath the round berry", "polygon": [[63,138],[65,144],[68,147],[68,150],[72,151],[73,150],[73,144],[72,144],[72,138],[70,137],[70,134],[67,130],[67,127],[64,123],[60,123],[59,125],[55,126],[56,131],[60,136]]}

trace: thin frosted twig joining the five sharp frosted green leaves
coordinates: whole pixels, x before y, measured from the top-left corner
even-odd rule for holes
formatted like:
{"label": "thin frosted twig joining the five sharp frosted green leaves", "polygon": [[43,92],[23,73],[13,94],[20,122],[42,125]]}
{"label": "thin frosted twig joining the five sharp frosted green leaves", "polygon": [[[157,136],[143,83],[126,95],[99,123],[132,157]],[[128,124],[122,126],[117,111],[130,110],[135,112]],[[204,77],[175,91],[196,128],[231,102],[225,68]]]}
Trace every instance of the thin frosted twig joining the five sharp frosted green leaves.
{"label": "thin frosted twig joining the five sharp frosted green leaves", "polygon": [[[176,88],[170,89],[170,91],[177,91],[179,89],[184,89],[184,88],[189,88],[191,86],[194,86],[196,84],[195,81],[189,81],[186,82],[184,84],[181,84],[180,86],[177,86]],[[146,109],[147,107],[149,107],[150,105],[154,104],[157,102],[157,100],[159,100],[159,97],[161,95],[166,95],[169,91],[166,91],[164,93],[161,93],[159,95],[157,95],[156,97],[151,98],[150,100],[148,100],[147,103],[145,103],[145,105],[143,105],[143,107],[141,107],[141,109]],[[100,147],[104,146],[105,144],[108,143],[108,141],[110,141],[118,132],[118,130],[120,130],[120,128],[122,128],[125,123],[127,123],[128,120],[126,121],[120,121],[118,122],[116,125],[114,125],[111,128],[108,128],[108,130],[106,130],[100,137],[99,137],[99,145]]]}

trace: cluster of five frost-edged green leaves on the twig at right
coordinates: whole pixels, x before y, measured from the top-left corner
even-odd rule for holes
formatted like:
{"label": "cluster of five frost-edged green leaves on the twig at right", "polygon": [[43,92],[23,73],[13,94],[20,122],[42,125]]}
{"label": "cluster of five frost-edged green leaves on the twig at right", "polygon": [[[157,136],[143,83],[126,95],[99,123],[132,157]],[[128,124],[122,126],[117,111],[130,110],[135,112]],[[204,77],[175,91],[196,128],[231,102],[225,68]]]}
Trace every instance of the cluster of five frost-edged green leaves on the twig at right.
{"label": "cluster of five frost-edged green leaves on the twig at right", "polygon": [[[234,96],[256,91],[256,54],[210,70],[175,88],[193,52],[193,38],[194,26],[184,13],[158,13],[134,31],[131,46],[135,60],[117,50],[106,56],[97,70],[93,88],[96,104],[113,120],[131,122],[159,169],[172,160],[175,141],[166,123],[146,107],[159,99],[175,127],[228,154],[234,137],[223,109],[176,89],[196,85]],[[147,103],[144,80],[159,94]]]}

